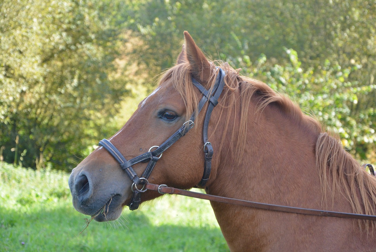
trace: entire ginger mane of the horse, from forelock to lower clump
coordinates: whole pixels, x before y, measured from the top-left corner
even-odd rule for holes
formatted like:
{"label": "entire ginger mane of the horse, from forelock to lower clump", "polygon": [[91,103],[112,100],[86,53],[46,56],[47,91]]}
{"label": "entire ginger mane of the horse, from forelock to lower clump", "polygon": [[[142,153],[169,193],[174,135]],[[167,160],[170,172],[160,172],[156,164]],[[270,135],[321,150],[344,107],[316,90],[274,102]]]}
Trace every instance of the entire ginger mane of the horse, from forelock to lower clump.
{"label": "entire ginger mane of the horse, from forelock to lower clump", "polygon": [[[212,71],[211,83],[207,87],[211,89],[214,86],[215,76],[218,69],[215,68],[215,62],[211,62]],[[321,191],[323,192],[323,202],[326,202],[327,192],[332,193],[332,204],[334,204],[335,191],[342,193],[350,202],[354,213],[376,215],[376,179],[371,177],[360,164],[346,151],[340,144],[338,138],[323,132],[324,127],[317,119],[302,113],[302,110],[291,101],[287,96],[275,92],[267,84],[254,80],[239,74],[241,69],[233,69],[227,62],[216,62],[219,67],[226,72],[225,88],[223,90],[220,107],[223,115],[224,109],[227,109],[227,117],[224,122],[224,132],[232,130],[229,154],[242,160],[247,138],[248,114],[252,97],[260,96],[256,105],[255,113],[262,113],[265,107],[270,104],[276,104],[287,116],[294,118],[299,123],[312,132],[318,132],[318,138],[315,147],[316,168],[320,176]],[[191,66],[188,62],[177,64],[164,72],[159,82],[161,85],[171,79],[174,88],[180,93],[186,107],[186,120],[197,113],[197,106],[200,97],[196,96],[196,87],[191,81]],[[240,98],[235,95],[240,92]],[[240,99],[240,104],[239,104]],[[240,106],[240,118],[237,127],[233,126],[233,115]],[[197,114],[196,114],[197,115]],[[217,122],[217,126],[220,123]],[[221,122],[223,123],[223,121]],[[216,126],[216,127],[217,127]],[[230,128],[232,126],[232,129]],[[216,128],[215,127],[215,128]],[[215,130],[214,130],[215,131]],[[321,132],[321,133],[320,133]],[[224,144],[224,138],[220,146]],[[359,222],[360,223],[360,222]],[[369,221],[365,221],[368,230]],[[372,227],[374,223],[372,222]]]}

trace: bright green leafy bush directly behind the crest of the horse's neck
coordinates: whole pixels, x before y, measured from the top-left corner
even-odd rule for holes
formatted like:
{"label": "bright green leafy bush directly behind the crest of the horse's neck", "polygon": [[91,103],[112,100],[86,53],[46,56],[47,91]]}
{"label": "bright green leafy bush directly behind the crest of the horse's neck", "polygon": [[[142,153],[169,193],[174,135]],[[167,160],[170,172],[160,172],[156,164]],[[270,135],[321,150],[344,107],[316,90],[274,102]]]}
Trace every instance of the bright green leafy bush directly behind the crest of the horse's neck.
{"label": "bright green leafy bush directly behind the crest of the horse's neck", "polygon": [[304,69],[296,51],[287,48],[285,51],[289,62],[283,66],[267,63],[265,55],[261,55],[254,65],[248,56],[244,56],[239,64],[246,75],[288,95],[303,111],[337,132],[344,147],[363,148],[358,154],[365,159],[367,145],[376,143],[375,111],[374,108],[358,111],[357,106],[359,97],[371,93],[376,85],[360,86],[350,81],[349,76],[359,71],[360,66],[341,68],[326,61],[316,69]]}

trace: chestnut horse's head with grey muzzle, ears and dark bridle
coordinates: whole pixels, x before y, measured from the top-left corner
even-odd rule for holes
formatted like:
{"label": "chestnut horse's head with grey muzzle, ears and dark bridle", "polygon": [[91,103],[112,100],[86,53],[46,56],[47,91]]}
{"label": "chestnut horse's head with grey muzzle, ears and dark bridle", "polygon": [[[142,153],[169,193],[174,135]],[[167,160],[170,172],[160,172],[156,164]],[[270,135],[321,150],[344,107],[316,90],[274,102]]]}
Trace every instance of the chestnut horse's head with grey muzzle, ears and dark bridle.
{"label": "chestnut horse's head with grey muzzle, ears and dark bridle", "polygon": [[[188,32],[185,31],[184,36],[185,44],[176,65],[165,72],[158,88],[140,102],[115,135],[108,141],[101,141],[102,146],[73,169],[69,186],[77,211],[91,215],[97,221],[115,220],[125,205],[134,203],[135,197],[138,201],[146,201],[160,196],[149,191],[142,197],[135,195],[134,190],[139,191],[146,181],[142,178],[146,169],[150,183],[182,189],[210,183],[210,170],[203,171],[205,149],[208,151],[209,148],[201,133],[205,132],[205,113],[199,113],[199,110],[205,111],[211,103],[217,102],[212,100],[214,87],[218,74],[222,74],[220,81],[224,84],[224,72],[206,59]],[[192,81],[198,83],[201,90]],[[165,143],[176,134],[180,134],[179,138]],[[186,136],[181,138],[181,135]],[[211,177],[220,156],[216,141],[210,146],[213,147],[217,149],[210,163]],[[116,151],[111,154],[109,149]],[[124,165],[129,160],[132,163]]]}

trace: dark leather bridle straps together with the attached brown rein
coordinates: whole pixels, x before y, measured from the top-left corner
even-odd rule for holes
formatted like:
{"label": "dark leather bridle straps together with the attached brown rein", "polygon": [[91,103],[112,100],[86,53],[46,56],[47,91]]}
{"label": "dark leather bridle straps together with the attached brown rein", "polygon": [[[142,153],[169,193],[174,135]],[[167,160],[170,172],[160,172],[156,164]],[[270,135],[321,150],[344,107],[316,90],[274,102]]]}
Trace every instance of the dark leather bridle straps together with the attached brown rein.
{"label": "dark leather bridle straps together with the attached brown rein", "polygon": [[[217,79],[215,81],[214,87],[212,91],[206,90],[200,83],[198,83],[194,78],[192,78],[192,82],[197,89],[203,94],[202,99],[198,105],[198,113],[202,110],[205,106],[206,102],[209,102],[208,109],[206,111],[204,124],[203,124],[203,142],[204,142],[204,154],[205,154],[205,163],[204,163],[204,172],[202,176],[202,180],[200,181],[201,186],[205,186],[206,182],[209,179],[210,171],[211,171],[211,159],[213,156],[213,147],[211,143],[208,141],[208,127],[209,127],[209,120],[211,117],[211,113],[213,108],[218,104],[218,98],[221,95],[221,92],[224,87],[224,77],[225,72],[223,69],[219,68],[219,73],[217,75]],[[212,93],[214,93],[212,95]],[[197,113],[197,114],[198,114]],[[156,162],[158,161],[160,155],[167,150],[172,144],[174,144],[177,140],[183,137],[188,131],[194,126],[193,121],[195,120],[195,114],[191,115],[190,121],[187,121],[183,124],[180,129],[178,129],[173,135],[171,135],[163,144],[161,144],[156,150],[148,151],[144,154],[141,154],[129,161],[125,159],[125,157],[118,151],[118,149],[107,139],[102,139],[99,142],[100,146],[103,146],[114,158],[120,163],[121,169],[123,169],[128,177],[133,181],[133,185],[135,185],[137,189],[138,184],[144,184],[145,190],[154,190],[158,191],[159,193],[170,193],[170,194],[179,194],[184,196],[189,196],[193,198],[200,198],[200,199],[208,199],[211,201],[217,202],[224,202],[229,204],[236,204],[236,205],[244,205],[249,207],[256,207],[256,208],[263,208],[268,210],[275,210],[275,211],[284,211],[290,213],[300,213],[300,214],[311,214],[317,216],[330,216],[330,217],[342,217],[342,218],[352,218],[352,219],[365,219],[365,220],[376,220],[376,216],[373,215],[366,215],[366,214],[355,214],[355,213],[342,213],[342,212],[335,212],[335,211],[323,211],[323,210],[316,210],[316,209],[309,209],[309,208],[299,208],[299,207],[288,207],[284,205],[273,205],[273,204],[265,204],[253,201],[246,201],[241,199],[232,199],[226,198],[221,196],[215,195],[208,195],[204,193],[197,193],[191,192],[182,189],[176,189],[174,187],[167,187],[166,185],[158,185],[158,184],[150,184],[147,183],[147,178],[149,178],[151,172],[153,171]],[[147,162],[150,159],[149,164],[147,165],[145,171],[143,172],[141,178],[138,177],[136,172],[133,170],[132,165],[139,163],[139,162]],[[371,173],[374,175],[373,167],[370,164],[365,164],[364,166],[368,166]],[[132,198],[129,202],[129,209],[135,210],[138,208],[139,204],[141,203],[141,193],[145,190],[134,190]]]}

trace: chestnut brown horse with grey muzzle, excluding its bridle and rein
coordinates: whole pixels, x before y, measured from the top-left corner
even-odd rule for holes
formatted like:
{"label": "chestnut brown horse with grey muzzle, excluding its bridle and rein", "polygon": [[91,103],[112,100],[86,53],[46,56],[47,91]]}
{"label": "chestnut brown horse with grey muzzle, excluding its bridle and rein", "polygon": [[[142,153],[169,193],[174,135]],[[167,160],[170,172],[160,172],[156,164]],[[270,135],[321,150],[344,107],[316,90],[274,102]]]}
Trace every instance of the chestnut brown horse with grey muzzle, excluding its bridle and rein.
{"label": "chestnut brown horse with grey muzzle, excluding its bridle and rein", "polygon": [[[209,102],[198,113],[203,95],[192,77],[213,90],[221,68],[226,73],[224,88],[208,124],[214,154],[204,186],[207,193],[375,215],[376,179],[363,171],[338,139],[266,84],[241,76],[227,63],[216,68],[189,33],[185,31],[184,36],[176,65],[109,139],[130,160],[162,144],[196,115],[190,132],[154,163],[150,183],[181,189],[200,184],[205,148],[202,132]],[[136,177],[141,177],[146,166],[144,162],[132,164]],[[117,219],[132,197],[132,172],[125,170],[104,147],[93,151],[69,178],[76,210],[97,221]],[[161,194],[148,190],[140,195],[143,202]],[[376,251],[373,221],[220,202],[211,205],[231,251]]]}

